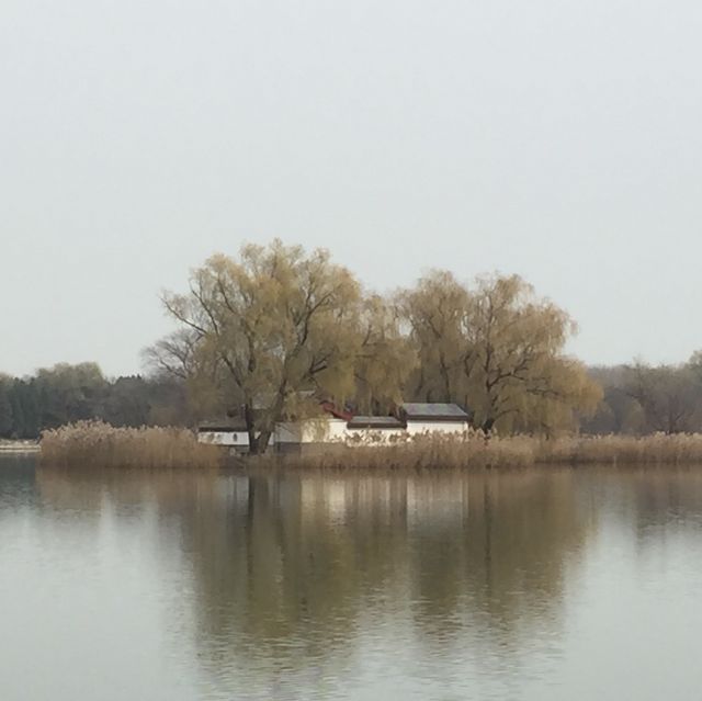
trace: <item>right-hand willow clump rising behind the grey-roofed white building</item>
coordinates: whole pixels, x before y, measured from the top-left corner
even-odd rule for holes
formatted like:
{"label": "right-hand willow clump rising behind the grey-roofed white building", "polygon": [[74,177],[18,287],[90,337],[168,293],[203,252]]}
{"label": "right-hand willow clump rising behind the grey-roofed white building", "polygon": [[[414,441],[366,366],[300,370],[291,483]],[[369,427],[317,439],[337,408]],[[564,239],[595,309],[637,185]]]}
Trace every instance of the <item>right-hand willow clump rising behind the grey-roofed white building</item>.
{"label": "right-hand willow clump rising behind the grey-roofed white building", "polygon": [[598,385],[563,352],[575,324],[521,278],[471,289],[437,271],[399,302],[419,358],[418,397],[462,405],[486,432],[551,432],[597,407]]}

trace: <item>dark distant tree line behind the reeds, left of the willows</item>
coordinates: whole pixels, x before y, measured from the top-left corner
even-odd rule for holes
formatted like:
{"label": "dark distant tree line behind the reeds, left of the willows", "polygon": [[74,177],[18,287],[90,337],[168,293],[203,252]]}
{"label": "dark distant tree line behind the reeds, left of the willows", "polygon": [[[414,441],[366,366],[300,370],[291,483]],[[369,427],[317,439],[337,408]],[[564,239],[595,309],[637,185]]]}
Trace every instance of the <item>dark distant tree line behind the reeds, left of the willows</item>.
{"label": "dark distant tree line behind the reeds, left of the willows", "polygon": [[169,426],[193,415],[183,383],[162,374],[107,380],[95,363],[63,363],[27,377],[0,374],[0,438],[33,439],[82,419]]}

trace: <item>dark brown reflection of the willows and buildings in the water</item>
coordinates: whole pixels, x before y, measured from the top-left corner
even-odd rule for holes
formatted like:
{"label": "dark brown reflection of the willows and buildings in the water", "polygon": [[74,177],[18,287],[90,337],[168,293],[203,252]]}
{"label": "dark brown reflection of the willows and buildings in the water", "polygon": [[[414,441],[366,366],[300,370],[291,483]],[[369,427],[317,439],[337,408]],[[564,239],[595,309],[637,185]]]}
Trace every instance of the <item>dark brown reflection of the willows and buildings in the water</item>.
{"label": "dark brown reflection of the willows and buildings in the water", "polygon": [[347,654],[364,626],[397,623],[394,612],[409,611],[403,634],[419,641],[467,631],[484,645],[556,620],[568,555],[587,533],[573,478],[39,473],[55,506],[156,504],[192,558],[207,654],[286,666]]}

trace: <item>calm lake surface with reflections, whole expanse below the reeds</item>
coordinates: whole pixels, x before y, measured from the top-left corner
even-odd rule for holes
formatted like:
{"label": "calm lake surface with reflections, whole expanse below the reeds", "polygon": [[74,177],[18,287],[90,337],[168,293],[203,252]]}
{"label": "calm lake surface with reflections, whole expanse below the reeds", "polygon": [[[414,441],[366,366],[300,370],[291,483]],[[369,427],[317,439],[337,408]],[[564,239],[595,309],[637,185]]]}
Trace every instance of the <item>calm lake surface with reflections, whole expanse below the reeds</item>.
{"label": "calm lake surface with reflections, whole expanse below the reeds", "polygon": [[702,697],[702,467],[0,459],[0,699]]}

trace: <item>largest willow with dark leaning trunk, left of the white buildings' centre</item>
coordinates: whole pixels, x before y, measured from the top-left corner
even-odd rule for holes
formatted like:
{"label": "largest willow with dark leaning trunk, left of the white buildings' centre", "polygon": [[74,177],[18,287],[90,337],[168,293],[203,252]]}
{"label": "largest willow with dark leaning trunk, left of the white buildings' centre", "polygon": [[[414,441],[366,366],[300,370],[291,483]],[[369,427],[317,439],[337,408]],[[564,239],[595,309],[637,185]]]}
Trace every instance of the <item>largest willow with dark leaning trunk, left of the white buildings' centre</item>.
{"label": "largest willow with dark leaning trunk, left of the white buildings' centre", "polygon": [[276,421],[306,410],[305,391],[343,398],[353,391],[361,291],[325,250],[247,245],[191,274],[185,294],[167,293],[168,313],[196,335],[240,403],[252,453]]}

